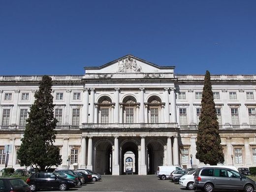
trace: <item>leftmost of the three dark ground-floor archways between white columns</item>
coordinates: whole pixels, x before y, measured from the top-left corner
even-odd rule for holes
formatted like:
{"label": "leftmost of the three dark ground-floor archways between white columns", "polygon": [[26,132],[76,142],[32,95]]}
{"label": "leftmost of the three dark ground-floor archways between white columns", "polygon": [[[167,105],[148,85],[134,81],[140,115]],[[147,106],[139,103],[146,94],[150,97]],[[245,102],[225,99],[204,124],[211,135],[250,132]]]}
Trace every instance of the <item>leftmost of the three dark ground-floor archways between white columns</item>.
{"label": "leftmost of the three dark ground-floor archways between white columns", "polygon": [[95,172],[112,174],[112,145],[108,140],[100,141],[95,147]]}

